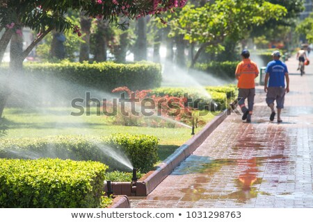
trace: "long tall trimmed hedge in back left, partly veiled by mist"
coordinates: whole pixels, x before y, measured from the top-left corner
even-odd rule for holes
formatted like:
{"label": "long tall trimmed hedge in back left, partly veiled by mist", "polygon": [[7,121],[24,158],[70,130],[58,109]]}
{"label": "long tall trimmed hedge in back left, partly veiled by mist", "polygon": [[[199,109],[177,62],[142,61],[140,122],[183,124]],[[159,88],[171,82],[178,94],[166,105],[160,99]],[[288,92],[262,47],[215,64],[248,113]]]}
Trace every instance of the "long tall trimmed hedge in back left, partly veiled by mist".
{"label": "long tall trimmed hedge in back left, partly veiled by mist", "polygon": [[[152,62],[118,64],[114,62],[26,63],[26,74],[37,78],[53,77],[86,87],[111,92],[120,86],[150,89],[161,85],[161,65]],[[52,80],[53,80],[52,78]]]}

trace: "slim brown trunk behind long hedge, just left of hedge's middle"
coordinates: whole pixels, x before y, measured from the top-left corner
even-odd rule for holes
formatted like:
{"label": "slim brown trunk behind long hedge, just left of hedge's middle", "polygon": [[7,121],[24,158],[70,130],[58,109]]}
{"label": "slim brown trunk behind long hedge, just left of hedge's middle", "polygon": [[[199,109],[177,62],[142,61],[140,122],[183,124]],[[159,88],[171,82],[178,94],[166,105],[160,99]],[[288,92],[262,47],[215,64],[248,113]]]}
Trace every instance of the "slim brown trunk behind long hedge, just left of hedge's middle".
{"label": "slim brown trunk behind long hedge, just left of hedge's middle", "polygon": [[79,50],[79,62],[89,61],[91,19],[81,14],[83,41]]}

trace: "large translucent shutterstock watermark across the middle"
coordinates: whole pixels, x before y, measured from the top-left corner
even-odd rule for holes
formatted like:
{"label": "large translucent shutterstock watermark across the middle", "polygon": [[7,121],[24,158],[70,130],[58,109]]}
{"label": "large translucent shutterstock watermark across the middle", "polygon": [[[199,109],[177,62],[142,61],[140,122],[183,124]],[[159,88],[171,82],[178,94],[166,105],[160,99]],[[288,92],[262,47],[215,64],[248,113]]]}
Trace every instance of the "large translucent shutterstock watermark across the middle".
{"label": "large translucent shutterstock watermark across the middle", "polygon": [[[147,98],[139,98],[136,93],[127,94],[122,92],[119,98],[103,98],[101,100],[95,99],[90,95],[90,92],[86,92],[85,98],[76,98],[72,100],[72,108],[74,110],[71,115],[74,117],[90,116],[92,113],[97,116],[116,116],[121,114],[125,117],[129,116],[143,116],[161,117],[164,114],[168,114],[172,117],[179,115],[191,115],[193,110],[198,110],[200,117],[208,114],[215,116],[220,115],[221,111],[225,108],[229,108],[236,113],[240,114],[239,110],[236,110],[236,102],[232,105],[227,104],[227,98],[225,101],[214,101],[208,98],[192,98],[188,94],[184,94],[183,97],[175,96],[152,96]],[[93,109],[93,112],[91,112]]]}

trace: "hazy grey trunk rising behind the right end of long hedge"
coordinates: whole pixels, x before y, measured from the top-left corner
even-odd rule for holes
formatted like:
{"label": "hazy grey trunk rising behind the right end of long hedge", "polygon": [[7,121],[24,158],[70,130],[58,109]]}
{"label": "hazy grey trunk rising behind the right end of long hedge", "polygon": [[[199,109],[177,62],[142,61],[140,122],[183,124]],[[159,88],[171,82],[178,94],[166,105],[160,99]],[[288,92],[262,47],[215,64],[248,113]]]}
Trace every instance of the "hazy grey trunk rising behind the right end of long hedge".
{"label": "hazy grey trunk rising behind the right end of long hedge", "polygon": [[142,17],[137,22],[137,40],[135,44],[134,60],[147,60],[147,18]]}

